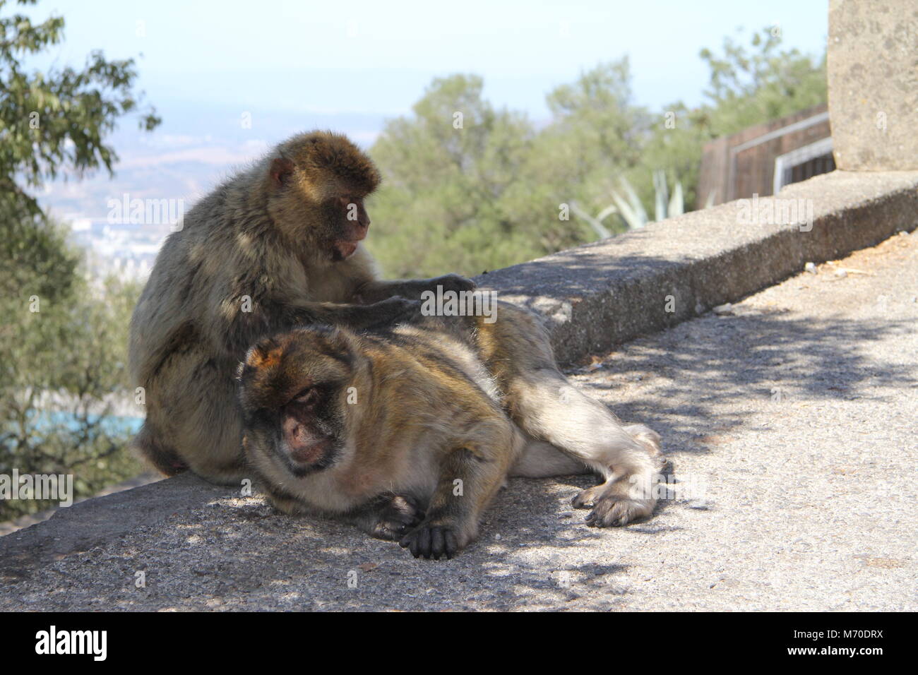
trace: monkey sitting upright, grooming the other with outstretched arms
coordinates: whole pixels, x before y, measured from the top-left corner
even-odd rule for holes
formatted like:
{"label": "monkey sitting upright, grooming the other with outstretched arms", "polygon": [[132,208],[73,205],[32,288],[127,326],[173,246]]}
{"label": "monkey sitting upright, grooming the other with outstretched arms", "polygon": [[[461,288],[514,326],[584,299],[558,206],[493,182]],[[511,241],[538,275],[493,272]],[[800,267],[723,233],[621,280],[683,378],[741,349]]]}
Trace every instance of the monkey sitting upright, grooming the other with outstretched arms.
{"label": "monkey sitting upright, grooming the other with outstretched arms", "polygon": [[417,313],[425,289],[475,287],[457,275],[379,279],[363,244],[364,199],[379,182],[345,136],[299,134],[201,198],[166,238],[129,327],[146,408],[132,444],[153,467],[244,478],[235,372],[263,335],[397,321]]}

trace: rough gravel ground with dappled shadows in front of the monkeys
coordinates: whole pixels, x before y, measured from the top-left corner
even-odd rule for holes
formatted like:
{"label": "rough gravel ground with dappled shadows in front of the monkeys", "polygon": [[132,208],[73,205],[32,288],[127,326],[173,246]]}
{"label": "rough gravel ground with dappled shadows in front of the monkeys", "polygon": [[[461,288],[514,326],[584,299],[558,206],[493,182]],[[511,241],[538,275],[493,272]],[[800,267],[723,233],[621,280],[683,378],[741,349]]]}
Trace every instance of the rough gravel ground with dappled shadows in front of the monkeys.
{"label": "rough gravel ground with dappled shadows in front of the monkeys", "polygon": [[915,610],[916,321],[900,235],[595,355],[572,378],[660,432],[678,481],[644,523],[587,527],[589,477],[518,478],[476,544],[418,561],[223,489],[7,566],[0,609]]}

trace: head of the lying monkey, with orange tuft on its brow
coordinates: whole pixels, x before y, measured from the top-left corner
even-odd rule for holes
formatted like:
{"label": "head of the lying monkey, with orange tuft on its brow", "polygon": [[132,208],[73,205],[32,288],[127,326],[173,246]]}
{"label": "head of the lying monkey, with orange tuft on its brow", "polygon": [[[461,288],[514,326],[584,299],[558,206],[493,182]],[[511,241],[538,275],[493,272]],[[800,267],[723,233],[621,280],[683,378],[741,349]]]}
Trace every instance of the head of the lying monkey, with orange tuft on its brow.
{"label": "head of the lying monkey, with orange tuft on its brow", "polygon": [[239,371],[243,446],[274,478],[303,478],[346,455],[348,388],[360,358],[353,336],[325,326],[266,338]]}

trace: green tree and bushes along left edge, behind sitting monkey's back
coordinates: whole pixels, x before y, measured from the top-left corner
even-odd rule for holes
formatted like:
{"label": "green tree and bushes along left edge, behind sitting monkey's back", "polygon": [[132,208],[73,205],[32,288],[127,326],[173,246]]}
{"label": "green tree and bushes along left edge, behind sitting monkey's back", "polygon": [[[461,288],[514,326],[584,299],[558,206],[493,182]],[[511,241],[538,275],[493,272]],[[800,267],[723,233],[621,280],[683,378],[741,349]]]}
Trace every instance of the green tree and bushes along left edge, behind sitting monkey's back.
{"label": "green tree and bushes along left edge, behind sitting monkey's back", "polygon": [[[29,71],[23,59],[59,43],[63,28],[62,17],[0,16],[0,474],[73,473],[79,495],[138,469],[124,451],[129,430],[109,413],[129,394],[126,331],[139,289],[90,283],[34,192],[62,172],[111,173],[118,157],[105,139],[117,119],[140,113],[149,130],[159,118],[139,110],[133,60],[95,51],[82,69]],[[0,518],[43,505],[0,501]]]}

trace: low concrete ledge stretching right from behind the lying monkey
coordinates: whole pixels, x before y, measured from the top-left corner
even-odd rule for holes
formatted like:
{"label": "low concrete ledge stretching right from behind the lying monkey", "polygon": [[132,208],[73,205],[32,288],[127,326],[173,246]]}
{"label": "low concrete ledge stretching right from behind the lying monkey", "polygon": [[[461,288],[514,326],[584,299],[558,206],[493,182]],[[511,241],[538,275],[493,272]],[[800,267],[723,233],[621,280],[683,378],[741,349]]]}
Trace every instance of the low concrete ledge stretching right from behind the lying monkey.
{"label": "low concrete ledge stretching right from behind the lying monkey", "polygon": [[771,286],[808,262],[834,260],[918,226],[918,172],[835,171],[763,197],[758,207],[776,199],[812,205],[812,230],[800,231],[796,222],[744,222],[733,201],[476,281],[542,314],[555,355],[572,364]]}

